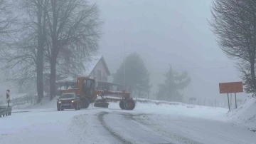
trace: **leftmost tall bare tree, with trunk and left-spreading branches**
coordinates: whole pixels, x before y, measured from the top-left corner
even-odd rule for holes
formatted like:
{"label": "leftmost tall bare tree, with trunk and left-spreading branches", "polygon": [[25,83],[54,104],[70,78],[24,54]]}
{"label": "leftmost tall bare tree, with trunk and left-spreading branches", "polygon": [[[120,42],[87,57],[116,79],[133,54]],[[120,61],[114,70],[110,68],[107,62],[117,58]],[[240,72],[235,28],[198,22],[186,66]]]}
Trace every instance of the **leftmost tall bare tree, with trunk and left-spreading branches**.
{"label": "leftmost tall bare tree, with trunk and left-spreading branches", "polygon": [[39,103],[43,97],[43,51],[47,30],[44,10],[48,0],[22,0],[16,4],[23,11],[16,14],[20,17],[15,24],[18,31],[1,53],[3,68],[19,86],[35,81],[33,77],[36,76]]}

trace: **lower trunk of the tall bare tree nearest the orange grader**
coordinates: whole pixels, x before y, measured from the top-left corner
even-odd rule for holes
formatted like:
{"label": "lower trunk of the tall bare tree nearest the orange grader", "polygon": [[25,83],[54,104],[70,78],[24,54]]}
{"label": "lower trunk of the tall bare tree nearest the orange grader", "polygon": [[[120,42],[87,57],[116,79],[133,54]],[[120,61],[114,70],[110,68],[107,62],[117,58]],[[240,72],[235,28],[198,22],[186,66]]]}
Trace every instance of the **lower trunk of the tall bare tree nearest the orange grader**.
{"label": "lower trunk of the tall bare tree nearest the orange grader", "polygon": [[50,58],[50,100],[53,99],[53,96],[56,96],[56,56]]}

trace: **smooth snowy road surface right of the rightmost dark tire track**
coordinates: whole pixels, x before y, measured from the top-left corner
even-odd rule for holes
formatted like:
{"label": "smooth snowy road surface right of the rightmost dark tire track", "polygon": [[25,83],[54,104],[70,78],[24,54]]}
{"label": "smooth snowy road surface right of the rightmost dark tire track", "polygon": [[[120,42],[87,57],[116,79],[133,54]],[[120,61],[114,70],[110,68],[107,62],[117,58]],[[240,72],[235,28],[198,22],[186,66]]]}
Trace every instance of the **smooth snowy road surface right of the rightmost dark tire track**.
{"label": "smooth snowy road surface right of the rightmost dark tire track", "polygon": [[223,121],[178,115],[139,115],[138,121],[181,143],[255,143],[256,134]]}

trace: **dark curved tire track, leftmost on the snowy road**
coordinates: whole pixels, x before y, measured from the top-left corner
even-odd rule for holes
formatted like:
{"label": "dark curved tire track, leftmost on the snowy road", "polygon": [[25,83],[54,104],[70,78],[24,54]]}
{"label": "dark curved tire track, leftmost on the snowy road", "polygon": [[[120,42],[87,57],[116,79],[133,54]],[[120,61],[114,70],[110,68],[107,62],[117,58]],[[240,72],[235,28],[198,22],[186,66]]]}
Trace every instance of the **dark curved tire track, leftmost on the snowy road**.
{"label": "dark curved tire track, leftmost on the snowy road", "polygon": [[99,115],[98,115],[98,119],[100,120],[100,123],[102,124],[102,126],[110,132],[110,134],[116,138],[117,140],[119,140],[120,142],[122,143],[127,143],[127,144],[132,144],[132,142],[130,142],[129,140],[125,140],[124,138],[122,138],[121,135],[118,135],[116,132],[114,132],[114,130],[112,130],[112,128],[110,128],[109,126],[107,126],[107,124],[105,123],[104,121],[104,115],[107,115],[108,113],[107,112],[101,112]]}

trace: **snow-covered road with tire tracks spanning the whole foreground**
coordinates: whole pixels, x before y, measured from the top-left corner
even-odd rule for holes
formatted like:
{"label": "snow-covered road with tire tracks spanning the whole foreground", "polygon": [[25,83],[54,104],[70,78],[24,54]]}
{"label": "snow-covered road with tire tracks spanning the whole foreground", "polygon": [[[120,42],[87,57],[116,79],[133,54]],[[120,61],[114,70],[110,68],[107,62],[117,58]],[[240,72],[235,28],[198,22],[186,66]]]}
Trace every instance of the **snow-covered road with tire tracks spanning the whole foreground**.
{"label": "snow-covered road with tire tracks spanning the whole foreground", "polygon": [[256,143],[256,133],[220,120],[218,114],[223,113],[218,110],[209,110],[213,119],[171,108],[170,113],[111,106],[59,112],[55,108],[19,110],[0,118],[0,143]]}

